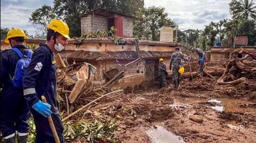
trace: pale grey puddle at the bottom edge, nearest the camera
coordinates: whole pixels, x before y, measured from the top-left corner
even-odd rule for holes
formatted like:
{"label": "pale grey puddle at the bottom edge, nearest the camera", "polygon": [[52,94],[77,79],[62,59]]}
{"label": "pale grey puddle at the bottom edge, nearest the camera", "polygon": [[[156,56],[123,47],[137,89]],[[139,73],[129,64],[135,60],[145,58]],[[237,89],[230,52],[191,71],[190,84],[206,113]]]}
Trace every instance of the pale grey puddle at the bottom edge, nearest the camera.
{"label": "pale grey puddle at the bottom edge, nearest the camera", "polygon": [[185,143],[182,137],[170,133],[164,127],[158,125],[155,127],[156,129],[146,131],[152,143]]}

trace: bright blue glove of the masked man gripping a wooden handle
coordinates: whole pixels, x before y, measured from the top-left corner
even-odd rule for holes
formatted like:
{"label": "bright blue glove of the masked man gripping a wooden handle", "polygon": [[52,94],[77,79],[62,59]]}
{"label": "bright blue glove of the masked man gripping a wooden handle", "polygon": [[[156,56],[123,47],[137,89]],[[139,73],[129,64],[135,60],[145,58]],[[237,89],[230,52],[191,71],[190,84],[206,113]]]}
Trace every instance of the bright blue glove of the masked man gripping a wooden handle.
{"label": "bright blue glove of the masked man gripping a wooden handle", "polygon": [[43,103],[42,101],[38,101],[36,102],[32,108],[39,112],[41,115],[43,115],[44,117],[48,117],[51,116],[51,114],[53,113],[51,111],[51,105],[49,105],[48,103]]}

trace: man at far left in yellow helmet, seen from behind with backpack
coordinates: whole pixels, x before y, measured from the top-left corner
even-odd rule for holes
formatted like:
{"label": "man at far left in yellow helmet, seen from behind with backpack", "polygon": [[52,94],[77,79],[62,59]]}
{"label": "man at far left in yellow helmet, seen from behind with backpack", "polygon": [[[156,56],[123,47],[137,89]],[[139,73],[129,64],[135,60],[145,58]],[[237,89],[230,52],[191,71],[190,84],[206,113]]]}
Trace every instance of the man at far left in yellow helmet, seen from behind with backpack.
{"label": "man at far left in yellow helmet, seen from behind with backpack", "polygon": [[[30,112],[27,101],[24,99],[22,85],[14,87],[13,77],[16,74],[16,65],[21,57],[15,50],[19,50],[21,56],[27,55],[28,49],[24,46],[27,38],[24,31],[13,28],[8,31],[5,43],[12,49],[1,52],[1,133],[6,143],[15,143],[15,132],[19,143],[27,143],[29,133]],[[14,50],[15,49],[15,50]],[[33,51],[30,51],[31,54]],[[22,80],[22,77],[21,77]],[[22,81],[20,81],[22,83]]]}

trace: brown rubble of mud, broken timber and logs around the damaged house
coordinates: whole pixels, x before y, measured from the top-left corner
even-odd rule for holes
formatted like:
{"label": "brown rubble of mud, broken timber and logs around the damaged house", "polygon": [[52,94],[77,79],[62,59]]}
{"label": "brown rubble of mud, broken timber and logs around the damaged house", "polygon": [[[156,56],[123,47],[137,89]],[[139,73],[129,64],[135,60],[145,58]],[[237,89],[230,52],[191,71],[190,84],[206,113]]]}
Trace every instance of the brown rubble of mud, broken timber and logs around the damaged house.
{"label": "brown rubble of mud, broken timber and logs around the damaged house", "polygon": [[[67,64],[65,59],[63,61]],[[220,76],[225,75],[227,71],[227,68],[224,68],[222,64],[218,62],[206,63],[205,73],[203,77],[199,77],[197,76],[199,74],[198,64],[191,61],[191,72],[189,63],[184,65],[187,70],[186,73],[182,74],[180,90],[174,90],[169,86],[158,89],[155,83],[151,83],[150,87],[144,85],[136,88],[128,87],[124,90],[112,88],[113,83],[122,78],[123,73],[130,66],[139,61],[138,58],[122,66],[123,68],[114,71],[115,74],[106,73],[105,76],[108,77],[108,81],[105,84],[101,83],[100,86],[95,86],[94,82],[90,80],[90,76],[93,74],[92,71],[88,72],[90,71],[88,63],[74,62],[67,65],[66,69],[61,68],[59,70],[58,92],[62,98],[60,111],[64,125],[66,124],[65,137],[68,142],[86,142],[89,141],[88,137],[95,136],[95,134],[90,136],[87,134],[87,131],[94,130],[93,128],[80,130],[80,128],[85,129],[84,123],[90,124],[91,127],[96,126],[94,119],[97,120],[95,121],[97,124],[107,125],[104,131],[112,132],[102,135],[102,138],[90,138],[90,141],[151,142],[146,131],[152,128],[153,122],[162,122],[167,131],[181,136],[184,142],[232,142],[236,140],[243,142],[256,139],[252,132],[252,129],[256,127],[254,119],[256,112],[251,112],[251,110],[245,110],[243,113],[225,110],[217,112],[209,106],[219,106],[218,104],[222,104],[222,102],[216,103],[216,105],[209,105],[210,103],[214,104],[213,102],[205,104],[206,101],[215,101],[214,98],[246,99],[255,102],[255,79],[253,76],[249,76],[253,74],[254,68],[249,68],[252,71],[249,75],[242,72],[241,76],[247,79],[246,82],[223,85],[217,82]],[[249,62],[254,62],[254,59]],[[248,61],[244,61],[244,63],[248,63]],[[171,75],[168,75],[168,79],[171,79]],[[172,83],[172,80],[168,82]],[[200,101],[187,102],[188,98],[196,98]],[[239,102],[236,106],[255,108],[254,103],[247,102],[244,104]],[[248,137],[237,136],[237,132],[229,134],[232,129],[225,124],[226,120],[232,120],[242,126],[239,127],[238,134],[245,134]],[[73,126],[74,124],[77,126]],[[110,130],[109,126],[115,126],[115,130]],[[74,127],[76,129],[73,129]],[[73,130],[79,133],[72,133]],[[68,133],[67,131],[71,132]],[[94,132],[96,133],[96,131]],[[111,140],[107,140],[108,137]]]}

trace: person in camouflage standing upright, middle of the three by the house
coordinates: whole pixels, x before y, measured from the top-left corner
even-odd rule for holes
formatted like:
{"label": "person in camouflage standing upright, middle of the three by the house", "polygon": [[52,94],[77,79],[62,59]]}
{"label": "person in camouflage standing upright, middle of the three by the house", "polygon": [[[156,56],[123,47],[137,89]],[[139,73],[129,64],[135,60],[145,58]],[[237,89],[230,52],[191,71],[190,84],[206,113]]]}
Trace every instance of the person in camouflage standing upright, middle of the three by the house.
{"label": "person in camouflage standing upright, middle of the three by the house", "polygon": [[175,47],[175,52],[171,56],[170,60],[170,70],[172,70],[172,77],[174,82],[174,87],[176,89],[180,86],[181,74],[179,73],[179,69],[182,67],[182,60],[189,61],[189,57],[185,57],[181,52],[179,47]]}

